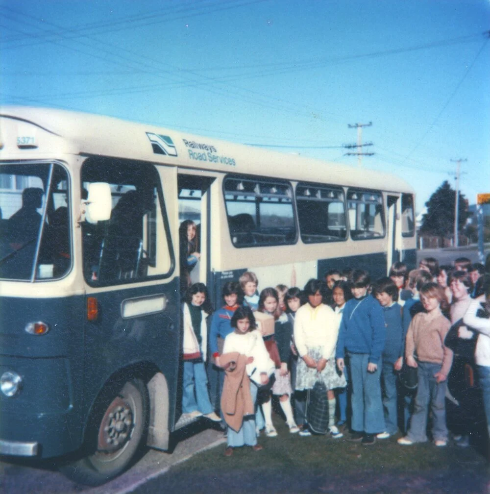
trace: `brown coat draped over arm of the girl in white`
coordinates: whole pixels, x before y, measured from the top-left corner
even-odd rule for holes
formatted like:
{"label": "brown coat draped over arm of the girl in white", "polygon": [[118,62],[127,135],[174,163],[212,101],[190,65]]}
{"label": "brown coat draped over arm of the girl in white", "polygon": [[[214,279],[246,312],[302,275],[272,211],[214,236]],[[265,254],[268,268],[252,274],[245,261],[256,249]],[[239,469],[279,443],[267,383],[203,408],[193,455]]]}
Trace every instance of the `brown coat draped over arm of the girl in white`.
{"label": "brown coat draped over arm of the girl in white", "polygon": [[255,413],[250,394],[250,379],[245,371],[246,355],[230,352],[221,355],[219,363],[225,369],[221,393],[221,411],[229,427],[238,432],[245,415]]}

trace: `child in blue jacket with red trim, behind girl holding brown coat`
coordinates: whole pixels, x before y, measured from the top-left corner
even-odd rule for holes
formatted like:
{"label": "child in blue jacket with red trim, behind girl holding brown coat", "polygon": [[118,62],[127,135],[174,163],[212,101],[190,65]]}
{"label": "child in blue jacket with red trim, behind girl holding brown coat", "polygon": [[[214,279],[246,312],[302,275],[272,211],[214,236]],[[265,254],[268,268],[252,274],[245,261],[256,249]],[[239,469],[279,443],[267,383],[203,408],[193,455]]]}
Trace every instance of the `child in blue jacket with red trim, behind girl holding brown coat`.
{"label": "child in blue jacket with red trim, behind girl holding brown coat", "polygon": [[207,371],[210,383],[211,403],[215,410],[220,409],[219,397],[223,390],[225,374],[219,362],[219,356],[223,353],[223,344],[226,336],[233,332],[231,318],[243,301],[243,292],[240,284],[229,281],[224,284],[222,290],[225,305],[218,309],[211,320],[209,331],[209,350],[212,359],[209,359]]}

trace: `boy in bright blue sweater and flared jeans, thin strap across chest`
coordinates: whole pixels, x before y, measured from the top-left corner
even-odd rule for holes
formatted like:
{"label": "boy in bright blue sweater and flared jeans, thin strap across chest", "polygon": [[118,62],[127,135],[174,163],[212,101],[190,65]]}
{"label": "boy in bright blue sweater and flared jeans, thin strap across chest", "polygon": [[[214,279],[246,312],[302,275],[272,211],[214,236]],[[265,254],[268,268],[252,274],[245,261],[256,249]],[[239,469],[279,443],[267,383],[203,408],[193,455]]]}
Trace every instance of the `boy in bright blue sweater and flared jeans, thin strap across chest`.
{"label": "boy in bright blue sweater and flared jeans, thin strap across chest", "polygon": [[344,369],[345,352],[350,361],[352,433],[347,439],[371,445],[376,434],[385,431],[380,379],[386,328],[383,309],[367,293],[367,272],[355,270],[352,284],[354,298],[345,304],[335,357],[340,371]]}

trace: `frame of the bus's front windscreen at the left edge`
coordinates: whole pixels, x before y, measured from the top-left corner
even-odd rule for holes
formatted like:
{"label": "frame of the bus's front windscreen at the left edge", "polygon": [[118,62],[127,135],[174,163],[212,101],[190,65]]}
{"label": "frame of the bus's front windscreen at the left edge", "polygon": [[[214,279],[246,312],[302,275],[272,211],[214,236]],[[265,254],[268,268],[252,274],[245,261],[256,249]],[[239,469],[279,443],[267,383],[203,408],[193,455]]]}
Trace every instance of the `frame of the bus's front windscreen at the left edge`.
{"label": "frame of the bus's front windscreen at the left edge", "polygon": [[[0,165],[60,165],[64,171],[66,172],[67,176],[67,187],[68,191],[66,193],[67,195],[67,208],[68,208],[68,235],[69,235],[69,246],[70,246],[70,266],[66,270],[66,272],[63,274],[63,276],[60,276],[59,278],[38,278],[37,274],[34,277],[34,281],[29,278],[28,280],[20,280],[20,279],[9,279],[9,278],[0,278],[0,281],[2,283],[8,283],[8,282],[20,282],[20,283],[53,283],[53,282],[58,282],[60,280],[63,280],[67,278],[73,271],[74,268],[74,256],[75,256],[75,225],[76,222],[73,221],[73,207],[72,207],[72,201],[73,201],[73,177],[72,174],[70,173],[70,167],[68,166],[68,163],[59,159],[43,159],[43,160],[8,160],[8,161],[0,161]],[[40,177],[41,178],[41,177]],[[47,179],[47,177],[46,177]],[[41,179],[43,186],[45,187],[47,185],[47,182],[44,183],[44,181]],[[20,189],[16,189],[20,190]],[[51,188],[51,195],[53,194],[53,191],[56,191],[55,189]],[[48,206],[49,206],[49,195],[46,197],[46,216],[48,216]],[[54,200],[53,200],[53,206],[54,206]],[[54,212],[55,209],[53,209],[52,212]],[[42,227],[42,237],[44,237],[45,231],[44,231],[45,225]],[[41,242],[42,242],[42,237],[41,237]],[[36,259],[37,260],[37,259]],[[37,267],[36,266],[36,272],[37,272]]]}

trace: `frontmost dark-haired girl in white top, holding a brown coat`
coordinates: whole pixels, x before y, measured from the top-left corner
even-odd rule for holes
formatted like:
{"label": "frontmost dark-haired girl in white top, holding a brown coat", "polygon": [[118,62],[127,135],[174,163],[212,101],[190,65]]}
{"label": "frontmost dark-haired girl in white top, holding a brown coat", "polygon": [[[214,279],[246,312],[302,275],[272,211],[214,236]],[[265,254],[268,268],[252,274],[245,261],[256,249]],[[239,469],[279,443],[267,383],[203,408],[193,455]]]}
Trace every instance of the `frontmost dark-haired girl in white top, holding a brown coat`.
{"label": "frontmost dark-haired girl in white top, holding a brown coat", "polygon": [[[257,399],[258,388],[268,384],[269,376],[275,369],[274,362],[270,359],[265,348],[262,335],[256,329],[255,318],[249,307],[238,307],[230,321],[230,326],[234,330],[225,338],[222,364],[228,372],[230,354],[236,352],[247,357],[245,372],[250,381],[251,406],[249,409],[250,413],[243,417],[236,417],[236,413],[225,414],[226,422],[228,424],[228,448],[225,450],[225,456],[231,456],[234,448],[242,446],[251,446],[253,451],[262,450],[262,446],[257,444],[253,411]],[[232,375],[227,373],[226,379],[232,379]],[[221,403],[223,404],[223,409],[226,410],[225,404],[231,401],[234,404],[231,409],[233,412],[236,412],[236,410],[240,409],[240,407],[237,406],[236,401],[242,394],[245,395],[246,400],[246,394],[237,393],[237,386],[230,386],[230,388],[232,389],[229,389],[228,386],[223,388]],[[239,422],[240,418],[242,418],[241,423],[235,423]]]}

